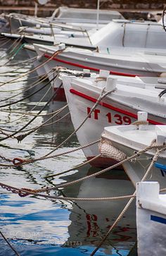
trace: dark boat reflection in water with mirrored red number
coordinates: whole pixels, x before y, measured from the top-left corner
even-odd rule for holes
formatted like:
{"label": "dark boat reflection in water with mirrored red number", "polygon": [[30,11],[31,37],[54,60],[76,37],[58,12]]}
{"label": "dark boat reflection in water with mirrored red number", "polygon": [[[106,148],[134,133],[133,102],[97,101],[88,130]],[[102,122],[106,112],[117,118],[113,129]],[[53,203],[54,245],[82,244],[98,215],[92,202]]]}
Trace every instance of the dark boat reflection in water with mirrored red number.
{"label": "dark boat reflection in water with mirrored red number", "polygon": [[[87,175],[95,171],[96,169],[90,168]],[[84,176],[84,170],[80,170],[79,173]],[[78,176],[80,178],[79,173],[65,176],[64,179],[75,180]],[[82,183],[76,183],[72,187],[70,186],[63,190],[64,195],[70,197],[75,197],[76,195],[77,197],[114,197],[131,195],[133,192],[134,187],[125,173],[117,170],[89,178]],[[90,246],[93,250],[94,246],[98,245],[103,236],[106,235],[106,232],[122,212],[126,203],[127,200],[75,201],[69,217],[71,224],[68,226],[70,237],[66,242],[67,245],[75,245],[76,243],[76,245],[85,246],[87,249]],[[108,236],[103,245],[104,252],[109,255],[112,255],[113,250],[127,250],[129,252],[135,241],[136,223],[135,204],[133,203],[117,224],[113,233]]]}

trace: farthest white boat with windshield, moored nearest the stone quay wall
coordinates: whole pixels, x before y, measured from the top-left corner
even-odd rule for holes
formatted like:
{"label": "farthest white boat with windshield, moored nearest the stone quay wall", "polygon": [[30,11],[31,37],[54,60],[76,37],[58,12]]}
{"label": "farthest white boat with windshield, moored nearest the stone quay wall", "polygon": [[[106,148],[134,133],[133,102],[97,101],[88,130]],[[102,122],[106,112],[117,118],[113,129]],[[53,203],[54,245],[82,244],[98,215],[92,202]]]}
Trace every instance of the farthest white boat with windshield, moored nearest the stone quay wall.
{"label": "farthest white boat with windshield, moored nearest the stone quay wall", "polygon": [[[77,25],[79,28],[89,30],[96,27],[97,12],[96,9],[60,7],[49,18],[37,18],[19,13],[4,14],[4,17],[8,20],[11,32],[16,32],[20,26],[41,25],[49,28],[51,23]],[[99,10],[98,28],[116,18],[120,19],[123,16],[118,11]]]}

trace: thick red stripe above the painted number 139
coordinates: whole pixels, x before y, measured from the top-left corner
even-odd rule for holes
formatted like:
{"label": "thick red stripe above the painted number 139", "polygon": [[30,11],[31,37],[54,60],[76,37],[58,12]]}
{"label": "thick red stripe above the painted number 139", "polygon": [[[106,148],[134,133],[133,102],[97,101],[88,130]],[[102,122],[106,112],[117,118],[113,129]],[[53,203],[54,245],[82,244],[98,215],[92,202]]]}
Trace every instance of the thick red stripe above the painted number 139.
{"label": "thick red stripe above the painted number 139", "polygon": [[[89,95],[85,95],[84,93],[78,92],[78,91],[75,90],[75,89],[72,89],[72,88],[71,88],[71,89],[70,89],[70,92],[73,93],[74,95],[77,95],[77,96],[79,96],[79,97],[82,97],[82,98],[84,98],[84,99],[87,99],[87,100],[89,100],[90,102],[94,102],[94,103],[97,102],[97,99],[95,99],[94,97],[91,97],[91,96],[89,96]],[[127,115],[127,116],[131,116],[132,118],[137,119],[137,115],[136,115],[136,114],[133,114],[133,113],[131,113],[131,112],[129,112],[129,111],[126,111],[126,110],[123,110],[123,109],[119,109],[119,108],[117,108],[117,107],[115,107],[115,106],[112,106],[112,105],[110,105],[110,104],[107,104],[107,103],[105,103],[105,102],[99,102],[98,104],[101,105],[101,106],[104,106],[104,107],[106,107],[106,108],[108,108],[108,109],[112,109],[112,110],[114,110],[114,111],[117,111],[117,112],[119,112],[119,113],[125,114],[125,115]],[[159,123],[159,122],[153,121],[153,120],[151,120],[151,119],[148,119],[148,122],[149,122],[149,123],[152,123],[152,124],[155,124],[155,125],[156,125],[156,124],[157,124],[157,125],[165,124],[165,123]]]}

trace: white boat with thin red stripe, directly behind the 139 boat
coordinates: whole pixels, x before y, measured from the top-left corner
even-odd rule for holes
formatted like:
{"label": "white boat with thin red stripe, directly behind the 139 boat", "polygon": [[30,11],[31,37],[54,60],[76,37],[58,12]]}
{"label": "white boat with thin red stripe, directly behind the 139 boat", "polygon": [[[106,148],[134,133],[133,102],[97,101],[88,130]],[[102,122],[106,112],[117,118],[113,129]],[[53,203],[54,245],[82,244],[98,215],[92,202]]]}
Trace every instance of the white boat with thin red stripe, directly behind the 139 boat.
{"label": "white boat with thin red stripe, directly behind the 139 boat", "polygon": [[165,49],[144,50],[134,49],[134,47],[124,49],[117,47],[111,54],[106,54],[90,49],[65,48],[64,46],[63,51],[51,59],[58,49],[62,49],[60,47],[34,44],[39,56],[43,56],[45,61],[50,59],[47,62],[49,70],[55,66],[65,66],[65,68],[75,68],[78,71],[82,71],[83,68],[96,72],[103,69],[110,71],[112,75],[127,76],[160,76],[166,71]]}

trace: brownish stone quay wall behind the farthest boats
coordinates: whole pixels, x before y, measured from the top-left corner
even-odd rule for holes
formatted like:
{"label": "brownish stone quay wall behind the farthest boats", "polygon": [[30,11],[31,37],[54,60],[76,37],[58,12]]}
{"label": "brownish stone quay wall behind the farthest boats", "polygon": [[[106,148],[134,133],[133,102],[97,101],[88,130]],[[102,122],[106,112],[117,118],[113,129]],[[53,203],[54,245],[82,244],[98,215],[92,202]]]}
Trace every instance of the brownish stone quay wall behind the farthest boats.
{"label": "brownish stone quay wall behind the farthest boats", "polygon": [[[37,0],[36,0],[37,1]],[[165,7],[166,3],[161,0],[100,0],[101,9],[115,9],[121,11],[159,11]],[[45,6],[38,8],[39,16],[51,16],[52,11],[59,6],[76,8],[96,8],[97,0],[49,0]],[[0,13],[19,12],[28,15],[34,14],[34,0],[0,0]]]}

